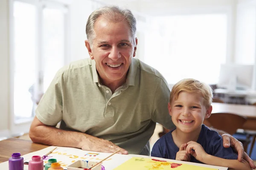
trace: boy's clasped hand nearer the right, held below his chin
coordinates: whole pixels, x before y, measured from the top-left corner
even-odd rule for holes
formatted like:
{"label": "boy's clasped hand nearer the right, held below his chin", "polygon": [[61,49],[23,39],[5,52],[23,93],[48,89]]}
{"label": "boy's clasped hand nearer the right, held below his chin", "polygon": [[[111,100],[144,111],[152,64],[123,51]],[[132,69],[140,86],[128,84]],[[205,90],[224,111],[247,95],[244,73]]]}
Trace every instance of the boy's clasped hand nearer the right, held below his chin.
{"label": "boy's clasped hand nearer the right, held below his chin", "polygon": [[186,153],[191,154],[192,156],[195,157],[195,159],[203,162],[203,159],[208,154],[204,151],[204,148],[201,146],[201,144],[194,142],[194,141],[190,141],[187,144],[188,144],[188,146],[186,147]]}

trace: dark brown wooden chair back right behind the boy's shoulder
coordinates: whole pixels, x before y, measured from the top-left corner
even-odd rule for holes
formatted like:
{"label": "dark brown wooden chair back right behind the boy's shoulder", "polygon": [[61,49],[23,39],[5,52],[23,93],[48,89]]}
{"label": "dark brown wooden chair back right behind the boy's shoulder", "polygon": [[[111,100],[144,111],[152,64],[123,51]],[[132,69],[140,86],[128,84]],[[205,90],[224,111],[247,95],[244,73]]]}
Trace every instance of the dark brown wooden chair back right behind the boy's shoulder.
{"label": "dark brown wooden chair back right behind the boy's shoulder", "polygon": [[[246,118],[233,113],[213,113],[208,119],[204,120],[204,124],[233,135],[238,129],[242,129],[245,121]],[[250,139],[238,140],[243,144],[244,150],[247,150]]]}

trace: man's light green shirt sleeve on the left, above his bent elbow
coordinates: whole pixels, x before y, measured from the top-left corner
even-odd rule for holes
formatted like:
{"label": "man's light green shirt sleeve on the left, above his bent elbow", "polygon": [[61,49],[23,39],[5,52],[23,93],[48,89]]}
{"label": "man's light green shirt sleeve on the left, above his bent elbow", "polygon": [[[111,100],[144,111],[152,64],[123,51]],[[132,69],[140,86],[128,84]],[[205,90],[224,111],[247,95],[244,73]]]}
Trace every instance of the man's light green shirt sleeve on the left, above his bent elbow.
{"label": "man's light green shirt sleeve on the left, above his bent elbow", "polygon": [[62,119],[63,71],[58,71],[35,111],[37,118],[45,125],[57,125]]}

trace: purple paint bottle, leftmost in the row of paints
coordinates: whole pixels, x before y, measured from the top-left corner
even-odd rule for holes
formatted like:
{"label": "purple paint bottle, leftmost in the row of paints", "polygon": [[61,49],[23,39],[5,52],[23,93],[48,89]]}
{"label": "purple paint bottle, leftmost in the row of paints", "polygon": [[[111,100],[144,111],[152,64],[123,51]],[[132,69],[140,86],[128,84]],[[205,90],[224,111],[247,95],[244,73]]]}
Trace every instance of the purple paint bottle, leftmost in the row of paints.
{"label": "purple paint bottle, leftmost in the row of paints", "polygon": [[9,158],[9,170],[24,170],[24,159],[20,153],[13,153]]}

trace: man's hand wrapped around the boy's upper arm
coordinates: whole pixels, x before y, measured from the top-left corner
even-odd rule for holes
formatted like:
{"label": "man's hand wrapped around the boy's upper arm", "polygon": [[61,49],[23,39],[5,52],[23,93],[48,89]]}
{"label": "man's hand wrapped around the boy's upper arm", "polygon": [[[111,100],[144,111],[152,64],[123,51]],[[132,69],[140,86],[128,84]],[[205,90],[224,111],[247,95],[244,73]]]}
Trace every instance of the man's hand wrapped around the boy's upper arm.
{"label": "man's hand wrapped around the boy's upper arm", "polygon": [[238,153],[238,160],[241,162],[243,159],[247,161],[250,164],[250,167],[255,169],[256,166],[253,162],[252,159],[247,155],[247,153],[244,152],[244,147],[241,142],[239,142],[236,138],[229,134],[223,134],[222,136],[223,139],[223,146],[224,147],[233,147],[236,152]]}

